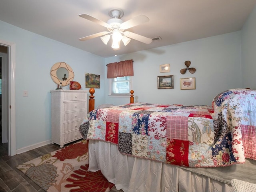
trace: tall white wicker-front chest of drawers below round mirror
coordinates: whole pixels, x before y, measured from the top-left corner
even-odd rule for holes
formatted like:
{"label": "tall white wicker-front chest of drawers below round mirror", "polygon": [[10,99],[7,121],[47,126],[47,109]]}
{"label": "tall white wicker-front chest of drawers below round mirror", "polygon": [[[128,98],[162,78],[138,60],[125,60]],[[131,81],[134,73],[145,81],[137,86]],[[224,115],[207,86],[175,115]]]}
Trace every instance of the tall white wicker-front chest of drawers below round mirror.
{"label": "tall white wicker-front chest of drawers below round mirror", "polygon": [[50,90],[52,98],[52,143],[64,144],[82,138],[79,127],[87,115],[86,90]]}

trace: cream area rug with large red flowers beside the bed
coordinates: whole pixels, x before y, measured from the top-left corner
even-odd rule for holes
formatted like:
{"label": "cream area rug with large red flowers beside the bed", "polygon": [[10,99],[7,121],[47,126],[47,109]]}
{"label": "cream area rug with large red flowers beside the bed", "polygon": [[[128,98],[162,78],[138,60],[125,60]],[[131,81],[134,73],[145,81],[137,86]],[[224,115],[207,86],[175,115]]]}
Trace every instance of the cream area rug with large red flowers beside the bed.
{"label": "cream area rug with large red flowers beside the bed", "polygon": [[114,184],[100,171],[88,172],[86,140],[17,166],[47,192],[108,192]]}

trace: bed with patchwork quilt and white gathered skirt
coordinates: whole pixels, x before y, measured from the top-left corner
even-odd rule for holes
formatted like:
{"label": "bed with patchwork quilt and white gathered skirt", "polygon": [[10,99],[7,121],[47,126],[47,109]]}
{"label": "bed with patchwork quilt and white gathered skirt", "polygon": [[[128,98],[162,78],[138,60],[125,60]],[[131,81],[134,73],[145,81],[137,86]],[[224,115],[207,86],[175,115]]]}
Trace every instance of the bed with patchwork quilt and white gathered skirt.
{"label": "bed with patchwork quilt and white gathered skirt", "polygon": [[231,192],[232,179],[255,182],[254,90],[226,90],[212,106],[94,109],[80,132],[89,140],[88,170],[124,192]]}

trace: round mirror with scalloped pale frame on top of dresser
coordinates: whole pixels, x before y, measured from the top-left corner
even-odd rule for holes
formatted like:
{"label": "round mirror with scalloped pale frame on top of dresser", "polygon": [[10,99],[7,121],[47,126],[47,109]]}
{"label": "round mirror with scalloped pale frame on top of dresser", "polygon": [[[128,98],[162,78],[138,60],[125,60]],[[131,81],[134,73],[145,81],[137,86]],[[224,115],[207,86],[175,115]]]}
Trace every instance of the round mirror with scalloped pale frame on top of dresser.
{"label": "round mirror with scalloped pale frame on top of dresser", "polygon": [[54,64],[51,68],[50,75],[56,84],[60,85],[61,82],[62,86],[69,85],[70,81],[74,79],[72,68],[65,62]]}

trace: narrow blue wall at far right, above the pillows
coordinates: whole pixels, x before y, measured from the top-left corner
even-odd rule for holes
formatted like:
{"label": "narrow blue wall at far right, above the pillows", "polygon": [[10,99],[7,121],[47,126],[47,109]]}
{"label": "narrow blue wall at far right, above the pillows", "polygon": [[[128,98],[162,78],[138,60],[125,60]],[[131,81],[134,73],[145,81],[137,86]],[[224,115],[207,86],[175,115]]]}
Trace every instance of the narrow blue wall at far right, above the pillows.
{"label": "narrow blue wall at far right, above the pillows", "polygon": [[241,30],[242,86],[256,90],[256,7]]}

